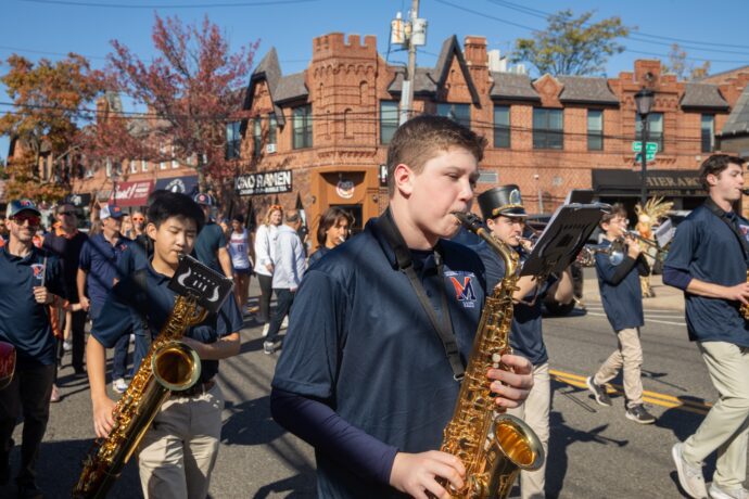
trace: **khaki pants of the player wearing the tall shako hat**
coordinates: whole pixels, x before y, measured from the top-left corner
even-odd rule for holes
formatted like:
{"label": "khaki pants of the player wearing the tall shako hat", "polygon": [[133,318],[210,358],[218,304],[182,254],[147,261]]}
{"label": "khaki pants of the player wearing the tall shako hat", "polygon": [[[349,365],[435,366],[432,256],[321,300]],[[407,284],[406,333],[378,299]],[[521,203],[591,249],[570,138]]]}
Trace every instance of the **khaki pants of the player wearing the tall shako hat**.
{"label": "khaki pants of the player wearing the tall shako hat", "polygon": [[549,364],[544,362],[533,367],[533,389],[525,401],[518,408],[508,409],[507,413],[525,421],[536,433],[544,447],[546,460],[536,471],[520,472],[520,494],[522,499],[542,499],[546,497],[546,462],[549,449],[549,406],[551,402],[551,382]]}

